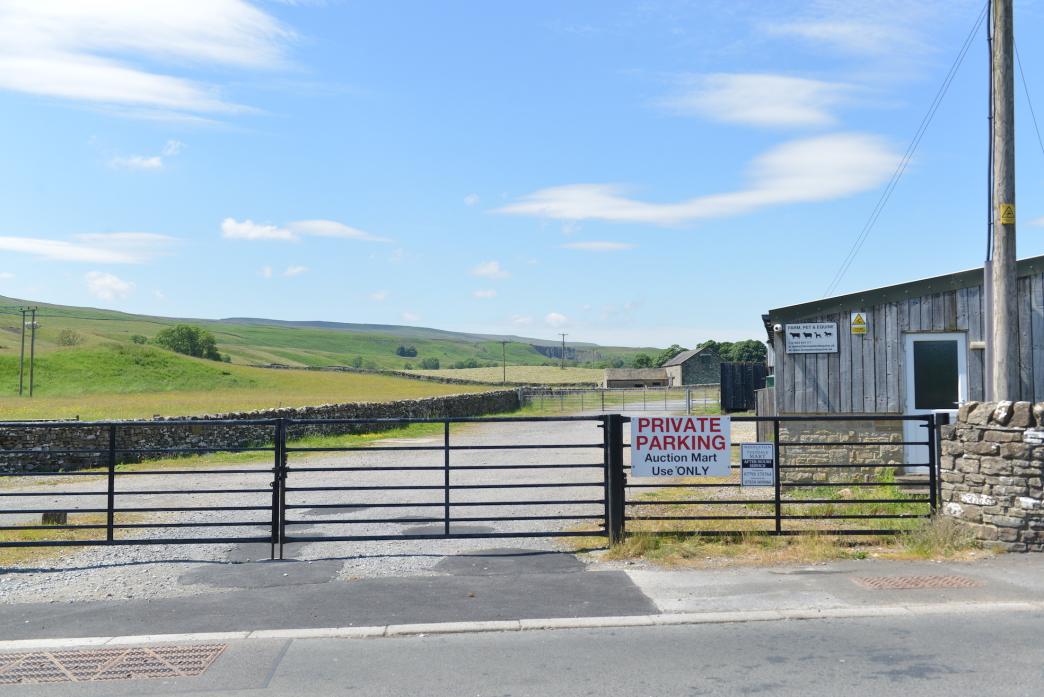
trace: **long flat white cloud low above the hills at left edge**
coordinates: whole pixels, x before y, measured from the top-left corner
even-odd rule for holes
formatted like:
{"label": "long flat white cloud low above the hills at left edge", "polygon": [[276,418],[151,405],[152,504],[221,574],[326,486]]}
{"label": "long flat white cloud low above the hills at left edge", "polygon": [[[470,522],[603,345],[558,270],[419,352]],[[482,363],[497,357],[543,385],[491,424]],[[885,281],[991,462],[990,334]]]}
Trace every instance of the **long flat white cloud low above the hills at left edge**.
{"label": "long flat white cloud low above the hills at left edge", "polygon": [[166,251],[176,240],[153,233],[90,233],[76,242],[35,237],[0,237],[0,251],[26,254],[46,261],[92,264],[141,264]]}

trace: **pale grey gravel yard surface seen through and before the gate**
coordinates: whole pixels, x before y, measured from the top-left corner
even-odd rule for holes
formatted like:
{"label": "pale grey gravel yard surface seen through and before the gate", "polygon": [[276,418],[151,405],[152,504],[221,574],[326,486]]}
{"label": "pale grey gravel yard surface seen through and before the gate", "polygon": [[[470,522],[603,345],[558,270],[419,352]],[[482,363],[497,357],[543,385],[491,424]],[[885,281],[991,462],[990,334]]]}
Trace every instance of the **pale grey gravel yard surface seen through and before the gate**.
{"label": "pale grey gravel yard surface seen through and before the gate", "polygon": [[[750,428],[748,428],[750,427]],[[753,425],[736,424],[733,440],[751,440]],[[485,519],[504,515],[566,516],[567,520],[526,522],[459,521],[456,533],[485,534],[536,532],[575,529],[580,524],[597,524],[597,520],[579,520],[577,515],[602,514],[601,503],[552,503],[563,500],[600,501],[601,429],[594,422],[561,423],[491,423],[454,425],[453,446],[479,447],[476,450],[453,451],[453,466],[505,464],[596,464],[596,467],[561,467],[539,470],[454,470],[454,486],[489,486],[521,484],[520,488],[454,489],[450,515]],[[370,536],[402,534],[440,534],[443,531],[444,452],[443,437],[384,439],[379,450],[360,453],[292,454],[286,504],[287,520],[301,522],[288,525],[290,536]],[[596,446],[584,449],[484,450],[481,447],[502,444],[562,446],[583,443]],[[396,448],[434,448],[432,451],[403,451]],[[435,467],[431,471],[356,471],[324,472],[325,467]],[[118,478],[117,490],[142,491],[122,495],[118,508],[149,508],[171,506],[256,506],[258,510],[139,513],[140,522],[172,523],[201,522],[227,524],[250,523],[248,526],[216,526],[208,528],[163,528],[124,531],[123,537],[193,539],[211,537],[267,537],[270,534],[269,462],[254,465],[224,465],[224,468],[253,470],[246,474],[217,474],[199,468],[189,474],[135,475]],[[562,487],[562,484],[583,484]],[[550,488],[547,485],[553,485]],[[66,478],[61,491],[98,491],[104,488],[103,478]],[[392,490],[295,490],[309,487],[398,486]],[[411,488],[411,487],[432,488]],[[207,494],[190,494],[205,489]],[[254,492],[237,492],[256,489]],[[32,485],[5,488],[10,491],[48,491],[39,480]],[[152,494],[152,491],[164,491]],[[170,494],[168,491],[182,491]],[[18,501],[10,504],[10,501]],[[530,501],[527,505],[496,505]],[[20,508],[96,508],[104,506],[104,497],[50,497],[7,499],[5,506]],[[31,503],[29,503],[31,502]],[[491,505],[461,505],[478,502]],[[395,504],[382,506],[381,504]],[[404,505],[406,504],[406,505]],[[408,505],[429,504],[429,505]],[[27,516],[0,515],[0,524],[24,522]],[[35,518],[35,516],[29,516]],[[401,522],[381,523],[381,519]],[[436,519],[436,520],[424,520]],[[39,519],[37,519],[39,520]],[[436,574],[432,568],[445,556],[490,548],[561,550],[562,539],[547,537],[464,538],[464,539],[392,539],[377,542],[315,542],[291,543],[286,558],[307,563],[316,559],[337,559],[342,562],[338,578],[374,576],[406,576]],[[41,559],[32,564],[0,570],[0,602],[54,602],[100,599],[167,598],[219,592],[224,588],[187,583],[182,577],[200,567],[215,563],[267,559],[269,547],[264,543],[183,544],[170,546],[133,545],[114,547],[64,548],[60,556]],[[594,560],[597,555],[593,555]],[[287,564],[285,574],[292,578],[294,564]]]}

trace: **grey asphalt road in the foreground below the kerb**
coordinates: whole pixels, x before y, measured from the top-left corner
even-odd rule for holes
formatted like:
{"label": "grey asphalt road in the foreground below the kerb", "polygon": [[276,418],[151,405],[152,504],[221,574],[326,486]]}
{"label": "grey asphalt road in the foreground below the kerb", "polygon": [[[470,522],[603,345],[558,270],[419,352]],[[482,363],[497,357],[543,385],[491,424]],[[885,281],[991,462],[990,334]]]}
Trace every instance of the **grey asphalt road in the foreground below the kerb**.
{"label": "grey asphalt road in the foreground below the kerb", "polygon": [[1041,614],[940,615],[381,640],[233,643],[201,676],[21,686],[32,695],[1019,697]]}

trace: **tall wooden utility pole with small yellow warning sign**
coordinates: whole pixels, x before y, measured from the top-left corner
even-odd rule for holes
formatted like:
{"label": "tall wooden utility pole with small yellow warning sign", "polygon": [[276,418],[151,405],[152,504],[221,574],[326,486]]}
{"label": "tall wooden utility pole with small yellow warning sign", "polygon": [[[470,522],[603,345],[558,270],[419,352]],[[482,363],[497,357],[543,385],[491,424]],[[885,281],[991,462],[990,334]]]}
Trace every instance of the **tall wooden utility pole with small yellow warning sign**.
{"label": "tall wooden utility pole with small yellow warning sign", "polygon": [[1018,400],[1019,335],[1015,257],[1015,71],[1012,0],[993,0],[993,400]]}

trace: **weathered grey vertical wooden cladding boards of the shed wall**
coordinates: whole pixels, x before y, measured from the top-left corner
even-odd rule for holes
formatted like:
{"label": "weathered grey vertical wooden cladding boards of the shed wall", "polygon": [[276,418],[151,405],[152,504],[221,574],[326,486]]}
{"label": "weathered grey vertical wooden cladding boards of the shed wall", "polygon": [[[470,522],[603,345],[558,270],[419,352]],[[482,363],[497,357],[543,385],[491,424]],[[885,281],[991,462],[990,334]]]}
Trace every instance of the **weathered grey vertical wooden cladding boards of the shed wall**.
{"label": "weathered grey vertical wooden cladding boards of the shed wall", "polygon": [[[1018,281],[1019,391],[1016,399],[1044,401],[1044,271]],[[966,278],[966,277],[962,277]],[[901,288],[901,287],[900,287]],[[959,332],[967,335],[968,398],[984,394],[984,356],[971,347],[987,334],[981,274],[976,285],[887,302],[860,303],[838,312],[769,313],[773,322],[837,322],[836,354],[786,354],[777,335],[776,408],[779,413],[902,413],[905,407],[906,334]],[[841,298],[844,299],[844,298]],[[798,306],[800,307],[800,306]],[[774,311],[775,312],[775,311]],[[851,333],[851,313],[867,318],[867,333]]]}

